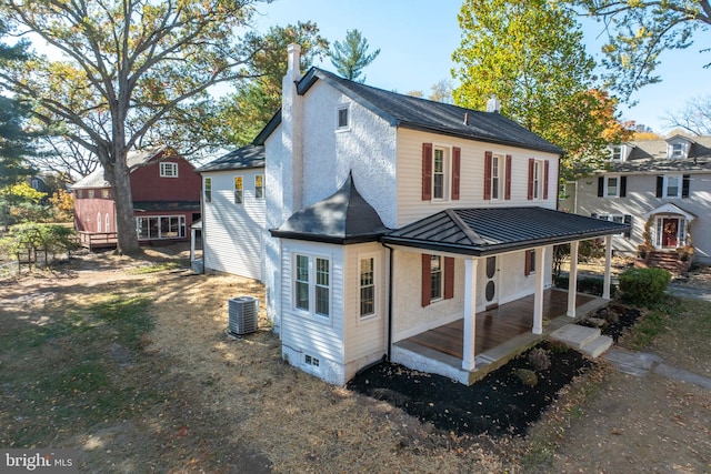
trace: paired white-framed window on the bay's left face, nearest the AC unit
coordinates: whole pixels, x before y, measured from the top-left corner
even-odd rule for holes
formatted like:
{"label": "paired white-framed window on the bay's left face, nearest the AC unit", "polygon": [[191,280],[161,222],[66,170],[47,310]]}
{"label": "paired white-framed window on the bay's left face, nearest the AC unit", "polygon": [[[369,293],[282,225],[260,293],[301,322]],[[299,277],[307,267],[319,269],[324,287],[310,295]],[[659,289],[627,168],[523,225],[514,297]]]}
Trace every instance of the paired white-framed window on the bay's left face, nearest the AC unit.
{"label": "paired white-framed window on the bay's left face, nearest the AC unit", "polygon": [[331,261],[322,256],[294,255],[294,307],[317,316],[331,314]]}

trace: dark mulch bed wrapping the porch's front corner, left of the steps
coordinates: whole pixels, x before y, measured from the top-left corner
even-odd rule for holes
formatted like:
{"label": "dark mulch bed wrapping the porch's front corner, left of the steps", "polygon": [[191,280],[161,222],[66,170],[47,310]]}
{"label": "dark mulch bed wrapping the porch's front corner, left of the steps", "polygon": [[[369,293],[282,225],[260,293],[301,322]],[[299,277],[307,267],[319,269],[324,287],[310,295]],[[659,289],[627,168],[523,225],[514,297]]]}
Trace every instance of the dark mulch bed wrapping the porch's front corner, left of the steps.
{"label": "dark mulch bed wrapping the porch's front corner, left of the steps", "polygon": [[[348,387],[383,400],[438,430],[464,434],[525,435],[558,397],[560,390],[593,362],[561,344],[543,342],[550,369],[534,370],[527,351],[471,386],[440,375],[383,362],[358,374]],[[527,386],[517,375],[525,369],[538,383]]]}

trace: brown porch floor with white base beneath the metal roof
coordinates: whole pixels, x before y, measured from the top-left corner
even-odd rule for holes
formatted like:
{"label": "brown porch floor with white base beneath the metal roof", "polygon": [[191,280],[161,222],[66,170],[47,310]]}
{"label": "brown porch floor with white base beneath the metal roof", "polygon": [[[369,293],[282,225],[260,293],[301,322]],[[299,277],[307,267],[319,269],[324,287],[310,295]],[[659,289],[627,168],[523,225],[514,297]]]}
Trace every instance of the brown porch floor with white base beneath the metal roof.
{"label": "brown porch floor with white base beneath the metal roof", "polygon": [[[578,293],[575,313],[590,314],[608,304],[608,300]],[[521,351],[545,339],[553,331],[574,322],[568,315],[569,295],[564,290],[543,292],[542,332],[534,334],[534,295],[502,304],[477,314],[473,371],[462,369],[464,355],[464,319],[443,324],[393,344],[391,357],[407,366],[472,383],[497,369]]]}

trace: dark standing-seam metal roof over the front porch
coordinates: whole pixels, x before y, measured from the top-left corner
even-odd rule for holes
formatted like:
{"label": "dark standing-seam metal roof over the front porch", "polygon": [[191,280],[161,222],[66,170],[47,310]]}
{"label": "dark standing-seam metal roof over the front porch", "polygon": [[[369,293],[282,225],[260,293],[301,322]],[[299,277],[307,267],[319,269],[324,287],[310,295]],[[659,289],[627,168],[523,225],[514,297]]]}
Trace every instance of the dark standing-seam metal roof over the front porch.
{"label": "dark standing-seam metal roof over the front porch", "polygon": [[485,256],[629,230],[629,224],[538,206],[470,208],[438,212],[381,240],[417,249]]}

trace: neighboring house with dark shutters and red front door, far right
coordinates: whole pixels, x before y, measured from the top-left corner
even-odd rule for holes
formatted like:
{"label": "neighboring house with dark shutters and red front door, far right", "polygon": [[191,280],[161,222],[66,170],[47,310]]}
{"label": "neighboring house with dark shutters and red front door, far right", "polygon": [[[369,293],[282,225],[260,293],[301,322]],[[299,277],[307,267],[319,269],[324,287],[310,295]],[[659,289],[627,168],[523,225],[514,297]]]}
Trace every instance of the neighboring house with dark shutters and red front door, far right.
{"label": "neighboring house with dark shutters and red front door, far right", "polygon": [[693,246],[711,263],[711,135],[674,135],[611,147],[610,168],[569,183],[562,206],[631,225],[612,239],[634,255],[645,241],[659,254]]}

